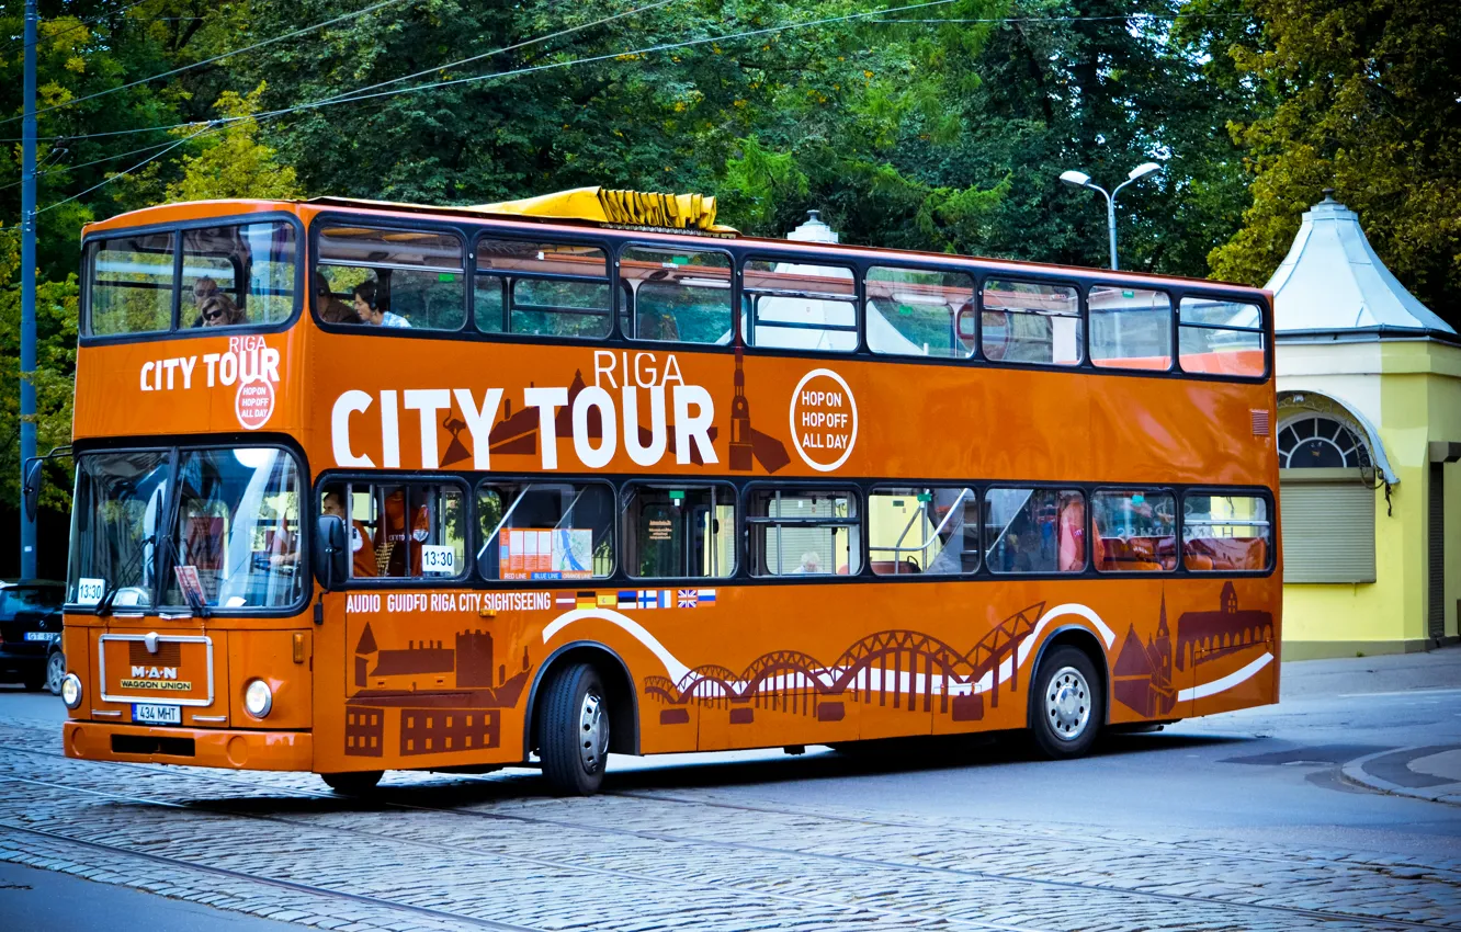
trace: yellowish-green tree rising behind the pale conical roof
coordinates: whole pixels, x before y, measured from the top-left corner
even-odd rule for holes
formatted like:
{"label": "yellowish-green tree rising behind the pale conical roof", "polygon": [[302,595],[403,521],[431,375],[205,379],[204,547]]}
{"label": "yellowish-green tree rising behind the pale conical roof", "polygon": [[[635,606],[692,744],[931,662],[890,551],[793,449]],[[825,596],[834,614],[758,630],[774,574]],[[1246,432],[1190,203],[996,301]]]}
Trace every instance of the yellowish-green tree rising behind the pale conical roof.
{"label": "yellowish-green tree rising behind the pale conical roof", "polygon": [[[1461,329],[1461,29],[1422,0],[1254,0],[1262,37],[1242,73],[1280,98],[1233,124],[1252,171],[1242,229],[1211,253],[1217,278],[1262,283],[1322,188],[1360,213],[1397,278]],[[1254,41],[1258,39],[1258,41]]]}

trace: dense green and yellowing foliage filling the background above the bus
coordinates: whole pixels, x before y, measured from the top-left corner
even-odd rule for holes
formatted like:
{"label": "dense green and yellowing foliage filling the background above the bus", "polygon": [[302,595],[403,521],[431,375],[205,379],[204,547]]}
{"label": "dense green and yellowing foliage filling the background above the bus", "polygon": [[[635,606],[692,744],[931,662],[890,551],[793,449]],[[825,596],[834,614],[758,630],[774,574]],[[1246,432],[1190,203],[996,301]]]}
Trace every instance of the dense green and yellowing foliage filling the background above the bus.
{"label": "dense green and yellowing foliage filling the background above the bus", "polygon": [[[18,434],[22,15],[0,7],[3,438]],[[41,0],[41,15],[42,446],[70,427],[80,228],[162,200],[697,190],[755,234],[817,207],[844,241],[1103,266],[1105,206],[1059,172],[1113,187],[1157,161],[1119,202],[1124,267],[1262,282],[1335,187],[1401,280],[1461,318],[1461,34],[1443,3]],[[15,456],[0,447],[6,501]]]}

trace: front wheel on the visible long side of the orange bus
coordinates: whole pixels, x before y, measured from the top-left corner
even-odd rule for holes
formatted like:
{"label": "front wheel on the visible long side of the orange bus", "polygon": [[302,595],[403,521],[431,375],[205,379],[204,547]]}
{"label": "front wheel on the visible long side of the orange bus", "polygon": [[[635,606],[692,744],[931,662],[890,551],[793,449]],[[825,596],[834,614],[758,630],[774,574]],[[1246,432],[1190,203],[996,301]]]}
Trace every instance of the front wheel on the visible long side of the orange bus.
{"label": "front wheel on the visible long side of the orange bus", "polygon": [[536,738],[543,776],[562,796],[592,796],[603,784],[609,752],[603,681],[587,663],[564,666],[543,690],[542,703]]}

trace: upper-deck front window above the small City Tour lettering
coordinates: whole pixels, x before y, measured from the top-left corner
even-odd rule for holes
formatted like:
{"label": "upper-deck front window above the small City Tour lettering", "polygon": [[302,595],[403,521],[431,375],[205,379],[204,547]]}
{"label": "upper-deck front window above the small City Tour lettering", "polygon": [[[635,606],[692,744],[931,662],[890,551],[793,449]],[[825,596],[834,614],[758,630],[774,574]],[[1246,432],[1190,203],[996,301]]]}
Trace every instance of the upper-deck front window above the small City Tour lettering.
{"label": "upper-deck front window above the small City Tour lettering", "polygon": [[88,333],[282,323],[294,313],[295,256],[286,222],[95,240],[86,263]]}

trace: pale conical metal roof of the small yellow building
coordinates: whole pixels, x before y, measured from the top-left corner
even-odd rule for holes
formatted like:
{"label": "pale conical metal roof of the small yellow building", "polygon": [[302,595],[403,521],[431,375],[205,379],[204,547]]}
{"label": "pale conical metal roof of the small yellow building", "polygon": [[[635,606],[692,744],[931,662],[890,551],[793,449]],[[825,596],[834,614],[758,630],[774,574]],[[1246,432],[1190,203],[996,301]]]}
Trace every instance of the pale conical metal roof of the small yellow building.
{"label": "pale conical metal roof of the small yellow building", "polygon": [[1391,275],[1360,229],[1357,213],[1331,191],[1303,215],[1289,256],[1268,279],[1274,329],[1436,330],[1455,333]]}

